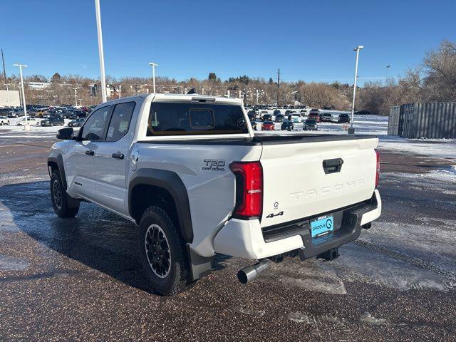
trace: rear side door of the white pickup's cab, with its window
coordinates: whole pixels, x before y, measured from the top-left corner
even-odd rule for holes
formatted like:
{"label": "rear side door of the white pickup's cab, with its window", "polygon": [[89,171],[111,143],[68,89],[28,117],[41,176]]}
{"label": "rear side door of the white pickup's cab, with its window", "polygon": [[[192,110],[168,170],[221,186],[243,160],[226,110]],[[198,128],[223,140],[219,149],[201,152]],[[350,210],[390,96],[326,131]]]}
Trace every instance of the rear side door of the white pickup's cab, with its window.
{"label": "rear side door of the white pickup's cab, with its window", "polygon": [[95,202],[120,214],[128,214],[124,199],[128,154],[133,142],[131,119],[139,107],[135,100],[114,105],[105,137],[96,144]]}

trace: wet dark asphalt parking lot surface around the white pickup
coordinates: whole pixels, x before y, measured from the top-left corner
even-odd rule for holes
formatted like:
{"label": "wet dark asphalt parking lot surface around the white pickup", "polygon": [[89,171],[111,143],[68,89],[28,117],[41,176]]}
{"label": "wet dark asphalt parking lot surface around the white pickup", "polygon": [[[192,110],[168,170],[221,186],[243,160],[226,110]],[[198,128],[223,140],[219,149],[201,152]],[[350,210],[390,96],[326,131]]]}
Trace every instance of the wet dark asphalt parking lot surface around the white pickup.
{"label": "wet dark asphalt parking lot surface around the white pickup", "polygon": [[456,341],[450,160],[383,151],[383,214],[335,261],[286,259],[246,286],[250,261],[219,256],[168,298],[150,293],[134,224],[88,203],[56,217],[51,144],[0,142],[0,341]]}

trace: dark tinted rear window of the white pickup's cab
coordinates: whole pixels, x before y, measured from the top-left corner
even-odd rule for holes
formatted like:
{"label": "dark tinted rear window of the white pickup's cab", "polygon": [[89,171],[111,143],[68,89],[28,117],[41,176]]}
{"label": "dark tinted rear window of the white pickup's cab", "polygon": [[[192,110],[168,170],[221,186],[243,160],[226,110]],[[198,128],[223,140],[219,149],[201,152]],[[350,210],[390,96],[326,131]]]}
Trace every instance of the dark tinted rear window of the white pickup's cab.
{"label": "dark tinted rear window of the white pickup's cab", "polygon": [[240,105],[153,102],[147,136],[249,133]]}

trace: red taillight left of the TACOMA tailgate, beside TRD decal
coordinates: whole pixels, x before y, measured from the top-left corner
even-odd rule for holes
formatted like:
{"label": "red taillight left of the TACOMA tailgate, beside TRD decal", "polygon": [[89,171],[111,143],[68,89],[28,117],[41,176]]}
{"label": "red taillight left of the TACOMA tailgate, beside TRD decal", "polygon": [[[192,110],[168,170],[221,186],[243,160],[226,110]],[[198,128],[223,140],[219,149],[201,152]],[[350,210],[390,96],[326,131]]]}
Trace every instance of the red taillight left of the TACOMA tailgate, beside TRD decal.
{"label": "red taillight left of the TACOMA tailgate, beside TRD decal", "polygon": [[260,162],[232,162],[236,176],[236,206],[234,217],[260,217],[263,209],[263,168]]}

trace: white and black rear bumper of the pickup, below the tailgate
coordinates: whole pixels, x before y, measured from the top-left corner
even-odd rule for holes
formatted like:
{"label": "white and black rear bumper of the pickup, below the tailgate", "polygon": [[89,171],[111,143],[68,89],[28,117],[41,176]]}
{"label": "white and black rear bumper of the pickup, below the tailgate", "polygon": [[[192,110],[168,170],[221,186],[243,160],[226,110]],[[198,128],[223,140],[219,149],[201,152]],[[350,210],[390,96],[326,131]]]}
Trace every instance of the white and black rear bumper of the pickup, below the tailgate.
{"label": "white and black rear bumper of the pickup, below the tailgate", "polygon": [[315,257],[358,239],[362,226],[380,217],[381,207],[380,194],[375,190],[370,203],[363,202],[331,213],[340,220],[340,227],[318,239],[311,239],[311,218],[268,231],[261,229],[258,219],[230,219],[215,236],[214,249],[217,253],[246,259],[263,259],[296,249],[302,249],[305,258]]}

